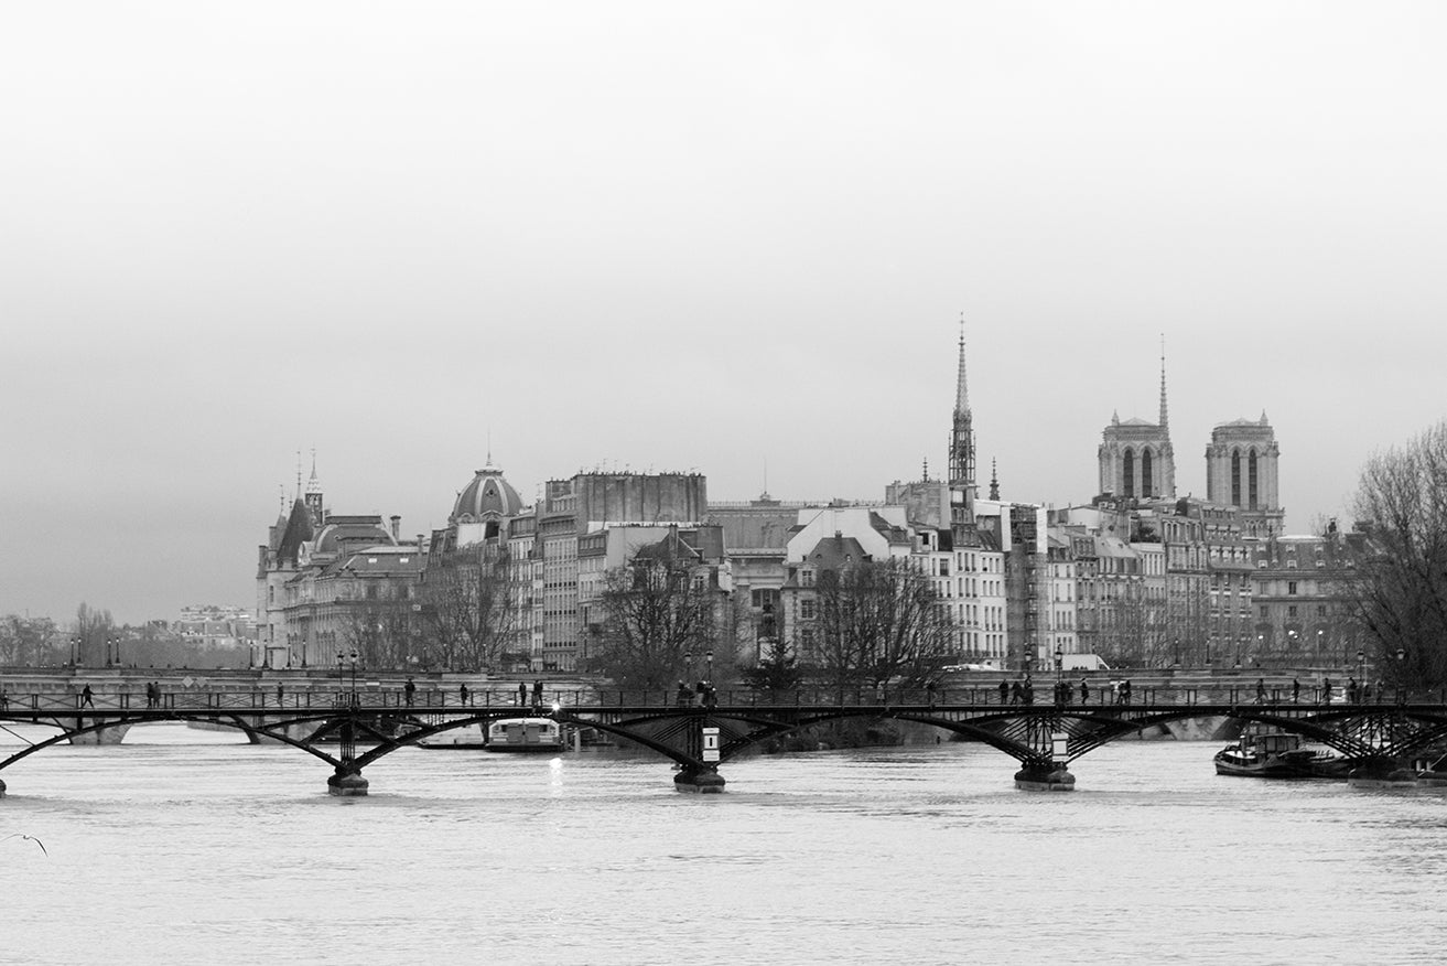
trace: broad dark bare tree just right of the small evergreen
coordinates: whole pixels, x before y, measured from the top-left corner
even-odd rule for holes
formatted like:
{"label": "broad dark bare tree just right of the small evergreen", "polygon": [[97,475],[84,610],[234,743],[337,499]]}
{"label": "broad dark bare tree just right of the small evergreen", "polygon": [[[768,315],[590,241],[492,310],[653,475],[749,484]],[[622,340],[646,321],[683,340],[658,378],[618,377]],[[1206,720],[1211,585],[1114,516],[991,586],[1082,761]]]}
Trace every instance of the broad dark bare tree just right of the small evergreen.
{"label": "broad dark bare tree just right of the small evergreen", "polygon": [[838,689],[922,686],[954,649],[954,624],[913,560],[862,560],[818,576],[819,673]]}

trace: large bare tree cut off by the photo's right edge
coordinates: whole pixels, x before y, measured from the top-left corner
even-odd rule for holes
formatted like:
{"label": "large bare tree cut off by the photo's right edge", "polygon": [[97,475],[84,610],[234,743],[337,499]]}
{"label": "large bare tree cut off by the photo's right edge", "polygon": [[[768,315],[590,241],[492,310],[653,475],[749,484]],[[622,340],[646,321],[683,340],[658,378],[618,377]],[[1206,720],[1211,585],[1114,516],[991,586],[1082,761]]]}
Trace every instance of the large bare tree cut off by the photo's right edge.
{"label": "large bare tree cut off by the photo's right edge", "polygon": [[1369,459],[1353,514],[1366,539],[1344,589],[1375,663],[1405,686],[1447,684],[1447,420]]}

